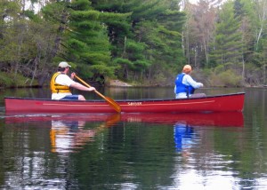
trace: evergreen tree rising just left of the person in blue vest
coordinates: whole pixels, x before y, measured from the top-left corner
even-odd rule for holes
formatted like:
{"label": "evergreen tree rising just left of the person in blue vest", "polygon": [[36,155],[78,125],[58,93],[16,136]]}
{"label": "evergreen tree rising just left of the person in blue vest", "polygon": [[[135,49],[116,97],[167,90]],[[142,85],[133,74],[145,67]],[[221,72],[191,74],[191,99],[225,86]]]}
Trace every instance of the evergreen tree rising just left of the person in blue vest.
{"label": "evergreen tree rising just left of the person in blue vest", "polygon": [[[144,34],[147,39],[143,40],[149,44],[148,52],[153,50],[153,54],[148,56],[148,58],[152,58],[151,62],[153,63],[150,67],[150,73],[154,75],[152,79],[157,79],[159,74],[166,77],[169,83],[173,83],[173,76],[180,72],[185,61],[182,51],[182,28],[185,13],[180,12],[179,6],[177,4],[174,6],[173,3],[174,1],[166,2],[168,5],[166,10],[158,14],[155,23],[151,22],[151,31]],[[162,79],[159,78],[159,80]]]}

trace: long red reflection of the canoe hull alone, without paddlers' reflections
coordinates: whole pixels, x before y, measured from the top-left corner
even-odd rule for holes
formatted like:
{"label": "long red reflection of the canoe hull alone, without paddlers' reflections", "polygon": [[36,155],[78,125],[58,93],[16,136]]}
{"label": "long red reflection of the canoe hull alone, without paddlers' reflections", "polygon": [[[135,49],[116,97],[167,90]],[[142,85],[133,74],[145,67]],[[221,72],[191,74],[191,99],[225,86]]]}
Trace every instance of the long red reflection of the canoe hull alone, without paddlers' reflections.
{"label": "long red reflection of the canoe hull alone, without paddlers' reflections", "polygon": [[[123,114],[62,114],[62,115],[5,115],[6,123],[25,123],[34,121],[61,121],[62,126],[85,125],[86,122],[104,122],[110,126],[117,122],[128,123],[186,123],[194,126],[239,126],[244,125],[241,112],[214,112],[214,113],[123,113]],[[63,123],[62,123],[63,122]],[[72,126],[72,127],[71,127]]]}

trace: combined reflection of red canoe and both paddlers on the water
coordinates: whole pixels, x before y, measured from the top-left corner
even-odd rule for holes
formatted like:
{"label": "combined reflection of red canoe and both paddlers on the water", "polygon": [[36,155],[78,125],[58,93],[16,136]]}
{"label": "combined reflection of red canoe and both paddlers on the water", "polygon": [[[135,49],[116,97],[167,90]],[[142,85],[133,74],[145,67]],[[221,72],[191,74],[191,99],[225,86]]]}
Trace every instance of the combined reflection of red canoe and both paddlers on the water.
{"label": "combined reflection of red canoe and both paddlers on the water", "polygon": [[[160,123],[174,126],[175,148],[181,151],[192,146],[194,130],[198,127],[243,127],[241,112],[183,113],[183,114],[70,114],[70,115],[6,115],[5,123],[38,123],[36,127],[50,125],[50,139],[53,152],[69,152],[92,141],[96,134],[107,127],[121,123]],[[42,124],[39,124],[42,123]],[[86,123],[97,124],[86,129]],[[21,126],[21,125],[20,125]],[[124,125],[125,126],[125,125]]]}

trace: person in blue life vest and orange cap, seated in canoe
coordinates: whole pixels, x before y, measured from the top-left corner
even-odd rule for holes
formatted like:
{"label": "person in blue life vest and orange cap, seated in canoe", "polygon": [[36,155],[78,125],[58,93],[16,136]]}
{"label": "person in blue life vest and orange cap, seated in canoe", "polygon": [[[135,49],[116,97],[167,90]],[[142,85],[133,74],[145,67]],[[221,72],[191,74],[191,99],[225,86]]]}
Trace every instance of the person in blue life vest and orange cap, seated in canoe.
{"label": "person in blue life vest and orange cap, seated in canoe", "polygon": [[192,67],[190,65],[185,65],[182,68],[182,74],[176,76],[174,93],[176,99],[186,99],[186,98],[201,98],[206,97],[205,93],[193,94],[195,89],[203,87],[203,83],[197,83],[190,76]]}

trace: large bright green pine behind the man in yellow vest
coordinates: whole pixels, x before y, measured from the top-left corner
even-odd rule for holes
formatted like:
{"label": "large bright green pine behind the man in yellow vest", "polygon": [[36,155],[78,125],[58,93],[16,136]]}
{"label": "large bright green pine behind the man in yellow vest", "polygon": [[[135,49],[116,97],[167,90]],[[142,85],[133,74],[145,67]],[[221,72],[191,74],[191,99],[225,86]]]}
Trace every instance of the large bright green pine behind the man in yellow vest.
{"label": "large bright green pine behind the man in yellow vest", "polygon": [[102,24],[101,12],[93,10],[91,3],[76,0],[69,5],[69,30],[64,35],[61,49],[64,59],[84,69],[82,77],[99,80],[99,77],[114,75],[109,67],[110,46],[107,27]]}

